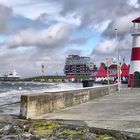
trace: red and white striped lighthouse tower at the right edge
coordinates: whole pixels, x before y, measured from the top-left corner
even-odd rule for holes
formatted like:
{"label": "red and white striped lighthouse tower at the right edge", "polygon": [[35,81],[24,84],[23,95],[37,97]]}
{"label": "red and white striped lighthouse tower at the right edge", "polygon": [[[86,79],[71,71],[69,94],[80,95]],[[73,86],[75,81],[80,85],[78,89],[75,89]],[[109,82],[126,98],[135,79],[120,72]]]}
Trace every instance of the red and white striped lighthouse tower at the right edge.
{"label": "red and white striped lighthouse tower at the right edge", "polygon": [[140,87],[140,17],[134,19],[132,23],[133,46],[128,87]]}

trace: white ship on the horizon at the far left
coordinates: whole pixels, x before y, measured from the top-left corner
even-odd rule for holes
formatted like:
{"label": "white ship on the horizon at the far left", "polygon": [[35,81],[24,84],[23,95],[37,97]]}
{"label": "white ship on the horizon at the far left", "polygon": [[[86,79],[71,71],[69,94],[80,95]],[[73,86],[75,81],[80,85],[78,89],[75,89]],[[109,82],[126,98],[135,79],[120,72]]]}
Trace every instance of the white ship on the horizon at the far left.
{"label": "white ship on the horizon at the far left", "polygon": [[8,74],[0,75],[0,81],[18,81],[21,79],[21,76],[14,69],[13,72]]}

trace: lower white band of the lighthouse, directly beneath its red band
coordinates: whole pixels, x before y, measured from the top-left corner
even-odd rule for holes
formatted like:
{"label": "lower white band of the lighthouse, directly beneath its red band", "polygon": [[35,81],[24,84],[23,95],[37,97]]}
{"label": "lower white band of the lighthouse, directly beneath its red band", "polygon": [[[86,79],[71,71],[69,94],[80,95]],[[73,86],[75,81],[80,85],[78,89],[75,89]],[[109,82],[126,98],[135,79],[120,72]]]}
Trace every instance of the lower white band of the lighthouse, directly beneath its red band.
{"label": "lower white band of the lighthouse, directly beneath its red band", "polygon": [[140,60],[131,61],[129,74],[133,74],[135,71],[140,72]]}

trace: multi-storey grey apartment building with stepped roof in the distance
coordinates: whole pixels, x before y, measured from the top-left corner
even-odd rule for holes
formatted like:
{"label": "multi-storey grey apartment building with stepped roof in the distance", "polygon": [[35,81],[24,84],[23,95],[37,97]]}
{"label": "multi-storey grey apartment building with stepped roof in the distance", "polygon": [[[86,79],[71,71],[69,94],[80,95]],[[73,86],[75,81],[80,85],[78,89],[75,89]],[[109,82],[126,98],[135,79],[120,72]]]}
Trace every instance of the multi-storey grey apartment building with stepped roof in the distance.
{"label": "multi-storey grey apartment building with stepped roof in the distance", "polygon": [[90,57],[80,57],[79,55],[69,55],[66,58],[64,73],[66,76],[90,75],[94,71],[95,65]]}

